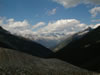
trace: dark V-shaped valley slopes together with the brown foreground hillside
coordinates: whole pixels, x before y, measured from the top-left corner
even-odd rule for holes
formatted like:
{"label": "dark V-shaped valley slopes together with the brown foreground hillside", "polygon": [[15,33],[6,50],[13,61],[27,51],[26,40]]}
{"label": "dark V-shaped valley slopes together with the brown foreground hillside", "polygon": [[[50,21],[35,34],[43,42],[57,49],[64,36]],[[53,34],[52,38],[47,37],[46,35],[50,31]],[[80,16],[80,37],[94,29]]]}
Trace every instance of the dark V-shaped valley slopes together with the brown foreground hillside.
{"label": "dark V-shaped valley slopes together with the brown foreground hillside", "polygon": [[100,75],[100,27],[75,35],[54,52],[0,27],[0,75]]}

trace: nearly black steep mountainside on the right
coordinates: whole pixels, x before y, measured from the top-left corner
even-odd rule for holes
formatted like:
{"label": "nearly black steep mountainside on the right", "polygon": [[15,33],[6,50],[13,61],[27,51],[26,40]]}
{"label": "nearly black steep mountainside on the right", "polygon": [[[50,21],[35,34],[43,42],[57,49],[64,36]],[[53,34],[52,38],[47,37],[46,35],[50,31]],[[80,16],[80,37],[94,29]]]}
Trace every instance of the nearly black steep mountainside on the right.
{"label": "nearly black steep mountainside on the right", "polygon": [[55,53],[55,57],[89,70],[100,70],[100,27],[74,40]]}

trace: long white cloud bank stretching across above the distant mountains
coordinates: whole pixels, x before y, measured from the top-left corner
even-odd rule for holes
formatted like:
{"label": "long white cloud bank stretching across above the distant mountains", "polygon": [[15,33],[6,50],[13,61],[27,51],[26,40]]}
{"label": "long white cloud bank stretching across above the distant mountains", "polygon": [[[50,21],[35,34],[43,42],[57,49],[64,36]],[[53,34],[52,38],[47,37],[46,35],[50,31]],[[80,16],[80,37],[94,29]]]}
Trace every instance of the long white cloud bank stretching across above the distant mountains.
{"label": "long white cloud bank stretching across above the distant mountains", "polygon": [[37,33],[38,35],[49,35],[53,33],[63,33],[67,35],[78,32],[87,27],[86,24],[81,23],[76,19],[61,19],[54,22],[49,22],[48,24],[45,22],[38,22],[35,25],[31,25],[27,20],[15,21],[14,19],[3,18],[0,18],[0,26],[3,26],[12,33],[27,34],[31,32],[32,34]]}

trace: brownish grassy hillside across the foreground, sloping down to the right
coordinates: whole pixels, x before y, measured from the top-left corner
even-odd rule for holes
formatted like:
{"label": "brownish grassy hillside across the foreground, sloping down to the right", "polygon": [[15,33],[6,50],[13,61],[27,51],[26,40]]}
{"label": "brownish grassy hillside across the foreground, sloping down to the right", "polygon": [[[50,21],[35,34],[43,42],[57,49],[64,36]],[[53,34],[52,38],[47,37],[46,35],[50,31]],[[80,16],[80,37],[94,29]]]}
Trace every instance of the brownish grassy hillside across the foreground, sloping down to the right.
{"label": "brownish grassy hillside across the foreground, sloping down to the right", "polygon": [[0,75],[100,75],[58,59],[44,59],[0,48]]}

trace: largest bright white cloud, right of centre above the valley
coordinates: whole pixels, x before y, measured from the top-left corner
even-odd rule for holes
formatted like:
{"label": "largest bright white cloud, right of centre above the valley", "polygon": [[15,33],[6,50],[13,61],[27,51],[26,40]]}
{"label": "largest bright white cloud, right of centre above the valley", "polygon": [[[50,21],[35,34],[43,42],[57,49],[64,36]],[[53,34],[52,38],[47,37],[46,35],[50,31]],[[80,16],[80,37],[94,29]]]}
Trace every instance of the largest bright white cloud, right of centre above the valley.
{"label": "largest bright white cloud, right of centre above the valley", "polygon": [[79,20],[76,19],[61,19],[55,22],[49,22],[47,26],[40,29],[38,32],[41,33],[71,33],[78,32],[86,28],[87,25],[84,23],[80,23]]}

